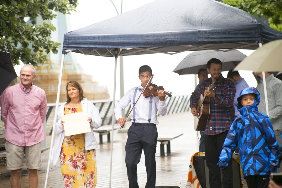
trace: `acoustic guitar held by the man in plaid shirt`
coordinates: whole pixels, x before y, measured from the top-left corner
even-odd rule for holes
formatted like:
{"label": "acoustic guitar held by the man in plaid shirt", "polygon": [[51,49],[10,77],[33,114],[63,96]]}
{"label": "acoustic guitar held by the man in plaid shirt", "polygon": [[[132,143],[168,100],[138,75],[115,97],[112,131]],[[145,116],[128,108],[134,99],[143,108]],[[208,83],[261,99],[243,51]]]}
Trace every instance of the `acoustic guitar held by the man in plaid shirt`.
{"label": "acoustic guitar held by the man in plaid shirt", "polygon": [[[208,86],[207,90],[215,87],[215,82]],[[194,128],[196,131],[205,131],[206,123],[210,117],[211,97],[201,95],[197,101],[197,116],[194,116]]]}

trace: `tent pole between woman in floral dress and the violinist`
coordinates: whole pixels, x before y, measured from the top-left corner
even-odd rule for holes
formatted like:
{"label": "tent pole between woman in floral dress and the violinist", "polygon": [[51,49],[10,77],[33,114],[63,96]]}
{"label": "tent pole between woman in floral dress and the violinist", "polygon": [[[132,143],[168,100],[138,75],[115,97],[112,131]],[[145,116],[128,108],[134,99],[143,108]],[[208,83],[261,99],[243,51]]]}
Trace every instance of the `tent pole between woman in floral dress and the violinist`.
{"label": "tent pole between woman in floral dress and the violinist", "polygon": [[[117,49],[116,53],[117,55]],[[115,102],[116,102],[116,79],[117,79],[117,59],[118,57],[115,56],[115,73],[114,73],[114,93],[113,93],[113,99],[112,99],[112,139],[111,139],[111,163],[110,163],[110,185],[109,188],[111,188],[111,181],[112,181],[112,147],[113,147],[113,131],[114,131],[114,122],[115,122]]]}

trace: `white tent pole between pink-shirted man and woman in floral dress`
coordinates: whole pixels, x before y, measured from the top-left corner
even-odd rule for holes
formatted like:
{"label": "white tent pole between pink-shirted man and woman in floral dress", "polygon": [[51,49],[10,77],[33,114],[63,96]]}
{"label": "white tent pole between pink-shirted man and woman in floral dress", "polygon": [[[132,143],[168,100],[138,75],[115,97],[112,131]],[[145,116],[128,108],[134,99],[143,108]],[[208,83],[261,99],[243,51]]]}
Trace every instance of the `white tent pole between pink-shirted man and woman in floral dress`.
{"label": "white tent pole between pink-shirted man and woman in floral dress", "polygon": [[62,55],[62,60],[61,60],[61,68],[60,68],[60,76],[59,76],[59,84],[58,84],[58,92],[57,92],[57,101],[56,101],[56,107],[55,107],[55,117],[54,117],[54,121],[53,121],[50,152],[49,152],[49,159],[48,159],[48,166],[47,166],[46,180],[45,180],[44,188],[46,188],[46,186],[47,186],[47,180],[48,180],[48,174],[49,174],[49,168],[50,168],[50,160],[51,160],[51,153],[52,153],[52,148],[53,148],[53,139],[54,139],[54,132],[55,132],[55,123],[57,121],[58,106],[59,106],[59,101],[60,101],[60,90],[61,90],[61,83],[62,83],[62,76],[63,76],[64,60],[65,60],[65,53]]}

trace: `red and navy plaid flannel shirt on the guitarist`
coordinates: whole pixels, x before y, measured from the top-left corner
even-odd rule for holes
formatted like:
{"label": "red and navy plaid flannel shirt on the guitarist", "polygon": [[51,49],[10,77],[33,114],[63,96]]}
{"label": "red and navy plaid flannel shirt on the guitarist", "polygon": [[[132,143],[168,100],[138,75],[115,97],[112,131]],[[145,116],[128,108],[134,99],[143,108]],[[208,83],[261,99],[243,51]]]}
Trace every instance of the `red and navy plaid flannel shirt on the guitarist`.
{"label": "red and navy plaid flannel shirt on the guitarist", "polygon": [[[221,75],[218,80],[223,78]],[[224,79],[224,78],[223,78]],[[191,95],[190,107],[197,108],[197,100],[205,92],[206,87],[212,84],[212,78],[202,81]],[[210,117],[206,124],[205,134],[219,134],[230,129],[235,118],[233,100],[235,95],[235,85],[229,79],[224,79],[223,83],[217,83],[212,89],[216,94],[215,99],[211,98]]]}

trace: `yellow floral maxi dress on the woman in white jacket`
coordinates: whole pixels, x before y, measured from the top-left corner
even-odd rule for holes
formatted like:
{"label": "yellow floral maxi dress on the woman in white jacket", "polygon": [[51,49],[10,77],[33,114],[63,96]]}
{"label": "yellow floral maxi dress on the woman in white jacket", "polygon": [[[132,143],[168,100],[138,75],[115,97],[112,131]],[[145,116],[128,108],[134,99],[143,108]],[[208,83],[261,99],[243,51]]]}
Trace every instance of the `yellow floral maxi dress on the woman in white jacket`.
{"label": "yellow floral maxi dress on the woman in white jacket", "polygon": [[[64,107],[64,114],[82,112],[82,107]],[[79,125],[78,125],[79,126]],[[91,188],[97,184],[96,151],[85,150],[85,134],[65,136],[60,152],[60,165],[68,188]]]}

